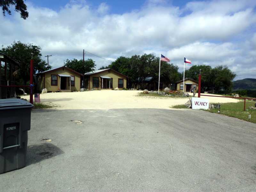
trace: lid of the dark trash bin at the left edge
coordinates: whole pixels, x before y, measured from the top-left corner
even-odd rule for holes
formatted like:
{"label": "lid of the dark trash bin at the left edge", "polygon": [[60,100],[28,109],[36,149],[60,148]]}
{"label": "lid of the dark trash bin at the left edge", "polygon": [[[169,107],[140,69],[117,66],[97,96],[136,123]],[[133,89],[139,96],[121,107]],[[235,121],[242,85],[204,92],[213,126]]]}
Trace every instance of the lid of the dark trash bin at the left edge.
{"label": "lid of the dark trash bin at the left edge", "polygon": [[32,107],[34,107],[34,105],[22,99],[0,99],[0,110]]}

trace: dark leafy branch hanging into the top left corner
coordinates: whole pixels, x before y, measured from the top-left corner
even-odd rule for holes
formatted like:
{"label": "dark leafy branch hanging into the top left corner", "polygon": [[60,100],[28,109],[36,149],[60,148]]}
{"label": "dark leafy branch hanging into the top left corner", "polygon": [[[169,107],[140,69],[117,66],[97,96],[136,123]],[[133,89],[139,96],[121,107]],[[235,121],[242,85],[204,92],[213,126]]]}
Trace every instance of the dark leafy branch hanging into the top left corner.
{"label": "dark leafy branch hanging into the top left corner", "polygon": [[23,19],[28,18],[27,5],[23,0],[0,0],[0,7],[2,7],[3,15],[5,12],[11,15],[10,6],[15,5],[15,11],[20,12],[20,17]]}

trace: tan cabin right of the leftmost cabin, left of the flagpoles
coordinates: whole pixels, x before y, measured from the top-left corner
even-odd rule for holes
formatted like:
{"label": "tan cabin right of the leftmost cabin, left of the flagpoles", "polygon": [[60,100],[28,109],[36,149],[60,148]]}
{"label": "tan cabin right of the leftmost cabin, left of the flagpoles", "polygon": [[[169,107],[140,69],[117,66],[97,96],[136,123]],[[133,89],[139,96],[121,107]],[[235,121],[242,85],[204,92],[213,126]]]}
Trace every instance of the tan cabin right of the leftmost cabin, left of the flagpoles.
{"label": "tan cabin right of the leftmost cabin, left of the flagpoles", "polygon": [[85,74],[87,89],[126,89],[127,76],[114,69],[100,69]]}

